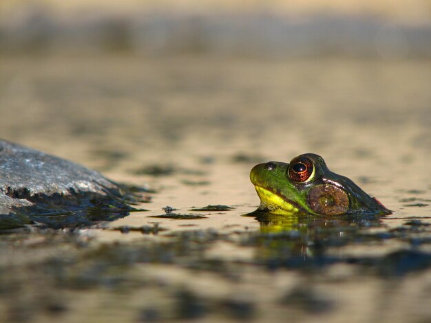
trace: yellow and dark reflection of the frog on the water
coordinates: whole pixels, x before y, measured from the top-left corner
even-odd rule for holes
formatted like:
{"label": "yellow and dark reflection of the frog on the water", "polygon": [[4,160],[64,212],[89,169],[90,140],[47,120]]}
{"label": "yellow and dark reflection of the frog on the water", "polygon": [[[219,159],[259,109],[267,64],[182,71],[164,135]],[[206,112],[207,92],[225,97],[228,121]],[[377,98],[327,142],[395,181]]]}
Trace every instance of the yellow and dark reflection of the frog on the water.
{"label": "yellow and dark reflection of the frog on the water", "polygon": [[[346,261],[344,248],[364,239],[364,230],[381,227],[379,216],[286,216],[253,212],[259,263],[275,267],[322,267]],[[367,235],[368,236],[368,235]],[[370,236],[368,236],[368,239]]]}

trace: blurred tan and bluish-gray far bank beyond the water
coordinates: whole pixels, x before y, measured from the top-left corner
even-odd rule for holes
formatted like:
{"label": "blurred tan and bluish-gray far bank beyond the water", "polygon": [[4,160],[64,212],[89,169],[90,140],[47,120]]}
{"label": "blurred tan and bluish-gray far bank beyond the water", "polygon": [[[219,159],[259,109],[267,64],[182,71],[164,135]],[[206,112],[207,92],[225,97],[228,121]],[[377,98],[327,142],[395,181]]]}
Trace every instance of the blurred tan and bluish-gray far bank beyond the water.
{"label": "blurred tan and bluish-gray far bank beyond the water", "polygon": [[3,0],[3,53],[428,57],[430,3]]}

